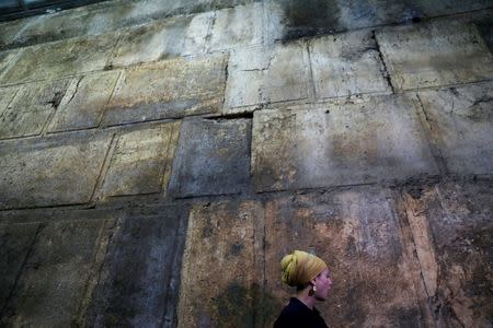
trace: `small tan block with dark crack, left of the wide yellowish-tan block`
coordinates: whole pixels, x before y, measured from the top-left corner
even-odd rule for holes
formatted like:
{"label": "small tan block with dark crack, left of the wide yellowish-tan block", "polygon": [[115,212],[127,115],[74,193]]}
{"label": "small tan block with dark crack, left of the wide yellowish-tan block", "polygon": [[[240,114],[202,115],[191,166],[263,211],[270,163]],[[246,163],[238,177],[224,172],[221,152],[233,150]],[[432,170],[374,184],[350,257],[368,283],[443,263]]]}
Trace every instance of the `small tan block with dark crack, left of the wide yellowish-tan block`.
{"label": "small tan block with dark crack, left of the wide yellowish-tan block", "polygon": [[118,75],[118,71],[111,71],[73,79],[57,108],[48,131],[98,127]]}

